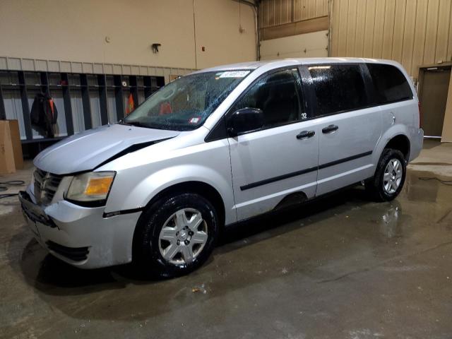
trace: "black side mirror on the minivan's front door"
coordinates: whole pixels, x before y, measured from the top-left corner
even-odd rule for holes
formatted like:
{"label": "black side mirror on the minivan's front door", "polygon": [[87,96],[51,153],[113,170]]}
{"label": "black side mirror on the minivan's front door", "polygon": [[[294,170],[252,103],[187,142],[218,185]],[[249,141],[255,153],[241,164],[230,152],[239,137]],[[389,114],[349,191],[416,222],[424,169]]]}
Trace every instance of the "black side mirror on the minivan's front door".
{"label": "black side mirror on the minivan's front door", "polygon": [[263,112],[258,108],[242,108],[227,119],[229,136],[239,136],[245,132],[256,131],[263,126]]}

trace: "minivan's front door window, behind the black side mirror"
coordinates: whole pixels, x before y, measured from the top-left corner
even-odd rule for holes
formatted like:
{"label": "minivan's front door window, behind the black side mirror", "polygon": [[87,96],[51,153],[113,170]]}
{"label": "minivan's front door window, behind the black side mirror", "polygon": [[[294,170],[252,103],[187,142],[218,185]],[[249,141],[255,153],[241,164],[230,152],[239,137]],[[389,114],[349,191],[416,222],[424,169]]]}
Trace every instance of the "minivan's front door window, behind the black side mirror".
{"label": "minivan's front door window, behind the black side mirror", "polygon": [[285,69],[258,79],[234,104],[232,112],[245,107],[262,109],[263,127],[269,128],[306,119],[302,103],[298,69]]}

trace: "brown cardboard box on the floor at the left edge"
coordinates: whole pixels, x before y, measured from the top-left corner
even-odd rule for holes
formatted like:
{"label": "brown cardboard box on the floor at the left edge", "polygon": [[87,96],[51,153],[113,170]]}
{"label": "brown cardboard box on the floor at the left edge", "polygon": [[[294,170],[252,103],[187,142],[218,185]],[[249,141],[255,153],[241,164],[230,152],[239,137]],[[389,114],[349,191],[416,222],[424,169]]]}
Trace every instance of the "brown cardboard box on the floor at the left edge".
{"label": "brown cardboard box on the floor at the left edge", "polygon": [[0,120],[0,174],[23,169],[22,144],[17,120]]}

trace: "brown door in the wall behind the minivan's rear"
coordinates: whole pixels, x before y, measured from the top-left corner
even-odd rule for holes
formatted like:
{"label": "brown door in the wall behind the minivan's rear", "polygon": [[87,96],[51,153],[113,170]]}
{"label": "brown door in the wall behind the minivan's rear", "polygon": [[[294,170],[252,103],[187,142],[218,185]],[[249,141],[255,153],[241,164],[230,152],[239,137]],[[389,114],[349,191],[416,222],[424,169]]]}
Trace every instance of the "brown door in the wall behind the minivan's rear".
{"label": "brown door in the wall behind the minivan's rear", "polygon": [[425,136],[441,136],[450,77],[450,67],[424,71],[420,102]]}

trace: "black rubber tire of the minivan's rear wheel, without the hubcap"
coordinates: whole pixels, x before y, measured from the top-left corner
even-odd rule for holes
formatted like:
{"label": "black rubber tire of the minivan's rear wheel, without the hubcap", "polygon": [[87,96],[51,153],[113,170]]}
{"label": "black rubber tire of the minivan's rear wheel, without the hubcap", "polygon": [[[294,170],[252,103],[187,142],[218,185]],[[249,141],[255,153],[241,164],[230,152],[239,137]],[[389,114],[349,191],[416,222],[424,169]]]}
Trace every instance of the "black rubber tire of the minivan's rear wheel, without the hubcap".
{"label": "black rubber tire of the minivan's rear wheel, without the hubcap", "polygon": [[[383,176],[386,166],[388,166],[388,163],[394,159],[399,160],[402,166],[402,177],[396,191],[389,193],[388,191],[386,191],[386,189],[384,189]],[[378,165],[376,165],[374,177],[368,179],[364,183],[366,186],[366,191],[369,194],[370,198],[374,201],[391,201],[396,198],[398,194],[400,194],[400,191],[402,191],[403,184],[405,183],[406,173],[406,160],[400,150],[385,148],[383,150],[383,153],[381,154]]]}

